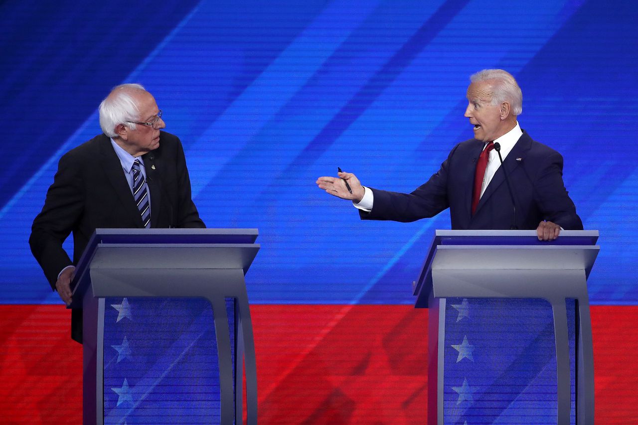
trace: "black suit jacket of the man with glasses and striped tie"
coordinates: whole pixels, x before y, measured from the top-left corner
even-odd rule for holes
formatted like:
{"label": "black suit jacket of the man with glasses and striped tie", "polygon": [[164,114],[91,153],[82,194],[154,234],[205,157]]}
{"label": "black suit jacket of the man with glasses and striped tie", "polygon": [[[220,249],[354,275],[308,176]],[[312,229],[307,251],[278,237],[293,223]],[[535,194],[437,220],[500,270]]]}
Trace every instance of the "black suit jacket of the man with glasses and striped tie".
{"label": "black suit jacket of the man with glasses and striped tie", "polygon": [[[159,147],[144,156],[151,194],[151,227],[205,227],[191,199],[191,182],[179,138],[161,131]],[[60,159],[29,244],[47,280],[77,264],[96,228],[142,228],[122,165],[106,135],[72,149]],[[73,261],[63,250],[73,232]],[[82,310],[71,312],[71,338],[82,341]]]}

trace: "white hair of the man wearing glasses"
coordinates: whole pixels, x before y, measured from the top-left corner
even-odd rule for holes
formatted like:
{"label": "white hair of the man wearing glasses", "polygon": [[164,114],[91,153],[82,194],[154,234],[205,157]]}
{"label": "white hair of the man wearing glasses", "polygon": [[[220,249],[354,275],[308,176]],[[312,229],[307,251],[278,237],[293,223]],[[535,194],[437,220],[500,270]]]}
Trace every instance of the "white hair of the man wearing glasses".
{"label": "white hair of the man wearing glasses", "polygon": [[100,103],[100,127],[108,137],[117,137],[115,127],[124,124],[131,130],[137,125],[128,121],[139,121],[140,110],[132,94],[146,91],[141,84],[121,84],[113,87],[111,93]]}

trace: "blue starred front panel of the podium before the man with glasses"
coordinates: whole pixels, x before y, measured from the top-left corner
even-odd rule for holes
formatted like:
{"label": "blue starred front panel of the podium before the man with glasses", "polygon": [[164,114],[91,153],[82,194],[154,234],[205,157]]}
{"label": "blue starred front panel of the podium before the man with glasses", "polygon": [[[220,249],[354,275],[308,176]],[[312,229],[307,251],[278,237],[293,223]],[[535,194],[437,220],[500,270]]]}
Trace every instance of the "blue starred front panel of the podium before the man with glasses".
{"label": "blue starred front panel of the podium before the man with glasses", "polygon": [[[234,308],[234,299],[226,298],[231,347]],[[221,422],[218,345],[209,301],[108,297],[103,355],[105,424]]]}

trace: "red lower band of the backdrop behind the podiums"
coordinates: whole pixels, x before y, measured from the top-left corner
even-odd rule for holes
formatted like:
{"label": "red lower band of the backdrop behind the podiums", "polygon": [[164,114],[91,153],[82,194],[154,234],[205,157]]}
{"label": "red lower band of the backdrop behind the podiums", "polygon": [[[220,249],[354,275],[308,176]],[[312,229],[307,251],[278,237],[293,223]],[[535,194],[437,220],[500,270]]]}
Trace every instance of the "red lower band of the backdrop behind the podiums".
{"label": "red lower band of the backdrop behind the podiums", "polygon": [[[422,424],[427,310],[251,306],[260,424]],[[638,417],[638,306],[593,306],[596,423]],[[62,306],[0,306],[3,423],[82,420],[82,347]]]}

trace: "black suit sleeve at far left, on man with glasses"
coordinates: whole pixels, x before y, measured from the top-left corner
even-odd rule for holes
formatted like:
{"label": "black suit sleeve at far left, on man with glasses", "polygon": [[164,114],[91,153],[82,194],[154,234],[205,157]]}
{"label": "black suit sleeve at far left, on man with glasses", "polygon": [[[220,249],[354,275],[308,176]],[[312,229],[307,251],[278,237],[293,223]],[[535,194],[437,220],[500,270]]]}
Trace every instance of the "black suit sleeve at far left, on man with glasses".
{"label": "black suit sleeve at far left, on man with glasses", "polygon": [[42,211],[31,227],[29,245],[47,280],[55,288],[57,275],[73,264],[62,248],[84,208],[80,165],[70,154],[64,155],[57,167],[53,184],[48,188]]}

